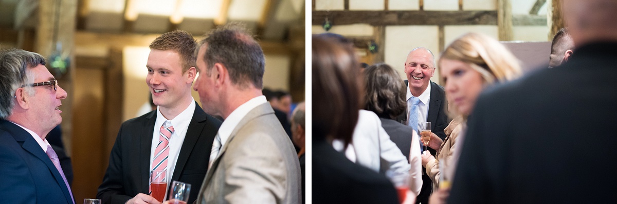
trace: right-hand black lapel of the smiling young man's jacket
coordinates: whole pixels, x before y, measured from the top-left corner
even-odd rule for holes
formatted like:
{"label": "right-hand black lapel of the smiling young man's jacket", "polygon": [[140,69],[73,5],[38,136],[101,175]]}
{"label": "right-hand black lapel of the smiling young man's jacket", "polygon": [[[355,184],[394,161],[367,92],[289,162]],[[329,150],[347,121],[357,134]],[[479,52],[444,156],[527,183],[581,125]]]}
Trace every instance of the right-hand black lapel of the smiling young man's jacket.
{"label": "right-hand black lapel of the smiling young man's jacket", "polygon": [[[180,174],[186,165],[186,161],[193,152],[193,148],[195,144],[197,144],[197,139],[201,136],[202,131],[204,131],[205,121],[207,117],[205,116],[204,110],[195,102],[195,111],[193,112],[193,118],[191,118],[191,122],[189,123],[189,127],[186,130],[186,136],[184,136],[184,142],[182,142],[182,147],[180,148],[180,155],[178,155],[178,160],[176,160],[176,167],[173,170],[172,181],[178,181],[180,178]],[[214,137],[210,141],[213,141]],[[210,145],[212,147],[212,145]],[[206,151],[209,152],[209,151]],[[206,155],[204,158],[210,158],[210,155]]]}

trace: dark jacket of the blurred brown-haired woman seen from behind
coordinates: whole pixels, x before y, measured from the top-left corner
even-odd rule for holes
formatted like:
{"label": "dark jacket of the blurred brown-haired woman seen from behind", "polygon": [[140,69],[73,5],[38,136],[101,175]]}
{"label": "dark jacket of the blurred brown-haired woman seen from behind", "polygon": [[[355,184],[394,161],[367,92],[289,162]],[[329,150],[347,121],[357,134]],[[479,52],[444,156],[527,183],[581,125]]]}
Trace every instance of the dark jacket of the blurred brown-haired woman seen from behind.
{"label": "dark jacket of the blurred brown-haired woman seen from behind", "polygon": [[312,149],[313,203],[399,203],[385,176],[349,161],[325,139],[314,139]]}

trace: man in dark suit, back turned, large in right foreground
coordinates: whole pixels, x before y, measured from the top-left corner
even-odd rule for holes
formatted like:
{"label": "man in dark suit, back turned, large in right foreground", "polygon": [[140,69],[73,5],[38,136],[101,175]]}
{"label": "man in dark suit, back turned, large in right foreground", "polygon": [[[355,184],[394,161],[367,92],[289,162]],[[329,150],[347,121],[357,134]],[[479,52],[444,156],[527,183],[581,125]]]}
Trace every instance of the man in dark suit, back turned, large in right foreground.
{"label": "man in dark suit, back turned, large in right foreground", "polygon": [[448,203],[617,200],[617,1],[561,4],[576,55],[481,94]]}

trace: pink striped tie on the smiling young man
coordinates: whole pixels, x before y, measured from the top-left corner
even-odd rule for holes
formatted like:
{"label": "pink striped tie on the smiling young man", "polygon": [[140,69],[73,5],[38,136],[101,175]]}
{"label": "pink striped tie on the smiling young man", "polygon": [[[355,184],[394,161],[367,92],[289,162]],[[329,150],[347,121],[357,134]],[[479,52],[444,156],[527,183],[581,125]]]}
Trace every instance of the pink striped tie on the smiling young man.
{"label": "pink striped tie on the smiling young man", "polygon": [[[167,121],[165,121],[165,123],[167,123]],[[173,134],[173,126],[165,128],[165,123],[160,126],[159,144],[154,150],[155,154],[154,160],[152,160],[152,171],[167,169],[167,157],[169,157],[169,139],[172,137]],[[149,194],[152,194],[151,184],[148,185],[148,192]]]}

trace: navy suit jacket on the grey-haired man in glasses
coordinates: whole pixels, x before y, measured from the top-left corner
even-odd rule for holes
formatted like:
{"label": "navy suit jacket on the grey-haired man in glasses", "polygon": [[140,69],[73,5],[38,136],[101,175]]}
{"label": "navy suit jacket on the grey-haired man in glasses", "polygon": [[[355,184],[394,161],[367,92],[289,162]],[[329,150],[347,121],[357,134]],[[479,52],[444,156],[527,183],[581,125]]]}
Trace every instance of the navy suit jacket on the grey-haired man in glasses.
{"label": "navy suit jacket on the grey-haired man in glasses", "polygon": [[0,120],[0,198],[8,203],[73,203],[60,172],[25,129]]}

